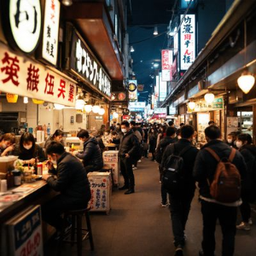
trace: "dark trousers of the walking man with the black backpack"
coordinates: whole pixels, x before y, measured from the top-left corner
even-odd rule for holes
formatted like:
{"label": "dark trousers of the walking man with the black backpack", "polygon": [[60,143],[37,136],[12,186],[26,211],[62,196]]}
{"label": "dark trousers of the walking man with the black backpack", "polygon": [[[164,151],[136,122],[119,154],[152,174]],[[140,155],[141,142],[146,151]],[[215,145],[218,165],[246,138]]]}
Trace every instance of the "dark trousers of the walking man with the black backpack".
{"label": "dark trousers of the walking man with the black backpack", "polygon": [[176,247],[184,246],[184,230],[189,218],[190,205],[193,197],[194,192],[187,195],[169,195],[172,232]]}

